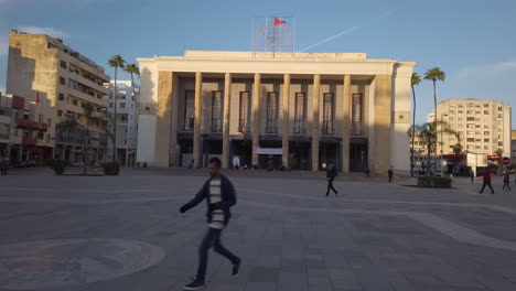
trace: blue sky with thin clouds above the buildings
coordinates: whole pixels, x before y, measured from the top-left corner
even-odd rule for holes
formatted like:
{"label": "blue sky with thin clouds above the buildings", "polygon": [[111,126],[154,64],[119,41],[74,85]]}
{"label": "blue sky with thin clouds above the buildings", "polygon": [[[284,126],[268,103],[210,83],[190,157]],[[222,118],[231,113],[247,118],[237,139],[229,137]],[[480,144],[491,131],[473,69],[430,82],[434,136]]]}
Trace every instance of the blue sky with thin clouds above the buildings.
{"label": "blue sky with thin clouds above the buildings", "polygon": [[[107,67],[114,54],[136,62],[181,55],[185,47],[249,51],[254,17],[292,15],[298,51],[350,31],[310,51],[415,61],[420,75],[438,66],[447,73],[440,100],[498,99],[516,107],[515,11],[514,0],[0,0],[0,90],[13,28],[62,36]],[[417,87],[417,97],[418,122],[424,122],[430,82]]]}

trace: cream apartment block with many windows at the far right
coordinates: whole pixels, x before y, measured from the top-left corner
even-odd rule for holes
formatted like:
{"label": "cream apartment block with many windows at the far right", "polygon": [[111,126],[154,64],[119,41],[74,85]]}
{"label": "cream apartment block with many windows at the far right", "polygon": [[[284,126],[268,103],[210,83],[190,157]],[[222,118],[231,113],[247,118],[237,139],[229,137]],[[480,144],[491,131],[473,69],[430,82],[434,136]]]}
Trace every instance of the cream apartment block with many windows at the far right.
{"label": "cream apartment block with many windows at the far right", "polygon": [[[510,106],[496,100],[449,99],[438,104],[438,119],[459,133],[438,134],[438,154],[453,153],[461,143],[464,152],[494,154],[498,149],[510,154]],[[433,121],[433,114],[428,117]]]}

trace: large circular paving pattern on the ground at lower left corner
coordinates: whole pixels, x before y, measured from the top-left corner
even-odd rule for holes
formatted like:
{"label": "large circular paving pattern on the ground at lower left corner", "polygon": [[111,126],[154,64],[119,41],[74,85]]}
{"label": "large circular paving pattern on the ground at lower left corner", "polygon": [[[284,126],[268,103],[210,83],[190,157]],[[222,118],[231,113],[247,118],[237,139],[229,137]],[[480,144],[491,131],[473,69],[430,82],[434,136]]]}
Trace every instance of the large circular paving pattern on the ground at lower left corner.
{"label": "large circular paving pattern on the ground at lower left corner", "polygon": [[125,239],[57,239],[0,245],[0,288],[52,289],[138,272],[164,258],[162,248]]}

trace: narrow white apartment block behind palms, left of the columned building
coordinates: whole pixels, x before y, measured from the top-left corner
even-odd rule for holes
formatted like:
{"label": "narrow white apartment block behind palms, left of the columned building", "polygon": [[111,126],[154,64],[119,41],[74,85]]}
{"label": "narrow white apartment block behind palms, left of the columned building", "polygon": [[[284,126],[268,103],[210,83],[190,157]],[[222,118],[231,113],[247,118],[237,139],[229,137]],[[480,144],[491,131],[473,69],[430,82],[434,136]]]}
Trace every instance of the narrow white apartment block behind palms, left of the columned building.
{"label": "narrow white apartment block behind palms, left of the columned building", "polygon": [[[131,80],[117,80],[115,94],[115,82],[105,84],[109,88],[107,101],[108,114],[114,116],[117,107],[117,159],[120,164],[135,165],[138,144],[138,100],[140,86]],[[116,98],[114,96],[116,95]],[[112,128],[111,122],[108,125]],[[112,159],[112,141],[108,140],[108,159]]]}

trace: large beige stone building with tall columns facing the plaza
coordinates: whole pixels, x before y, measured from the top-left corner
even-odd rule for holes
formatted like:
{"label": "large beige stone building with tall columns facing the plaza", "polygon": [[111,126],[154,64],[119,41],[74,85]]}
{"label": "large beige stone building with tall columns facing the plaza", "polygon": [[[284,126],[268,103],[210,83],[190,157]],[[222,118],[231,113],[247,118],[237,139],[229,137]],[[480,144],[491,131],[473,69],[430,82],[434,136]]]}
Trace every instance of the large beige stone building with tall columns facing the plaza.
{"label": "large beige stone building with tall columns facing the plaza", "polygon": [[[410,166],[416,63],[363,53],[187,51],[138,58],[139,162],[385,173]],[[407,117],[407,119],[409,116]]]}

